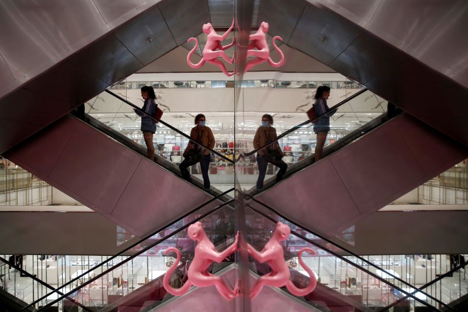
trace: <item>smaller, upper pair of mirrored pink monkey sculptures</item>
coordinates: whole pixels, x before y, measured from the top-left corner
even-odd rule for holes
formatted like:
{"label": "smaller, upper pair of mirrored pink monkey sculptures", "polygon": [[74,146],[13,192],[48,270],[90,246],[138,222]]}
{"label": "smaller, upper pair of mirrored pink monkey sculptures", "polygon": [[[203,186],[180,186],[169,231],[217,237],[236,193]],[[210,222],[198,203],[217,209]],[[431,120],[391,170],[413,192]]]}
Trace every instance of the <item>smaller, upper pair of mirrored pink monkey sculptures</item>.
{"label": "smaller, upper pair of mirrored pink monkey sculptures", "polygon": [[[211,23],[203,24],[203,28],[202,28],[203,32],[208,35],[206,37],[206,44],[203,47],[203,53],[202,53],[203,57],[200,60],[200,62],[198,62],[197,64],[193,64],[190,61],[191,56],[193,55],[193,53],[198,47],[198,40],[192,37],[188,39],[187,42],[195,41],[195,46],[190,50],[190,52],[187,55],[187,64],[192,68],[201,68],[205,64],[205,62],[207,62],[207,63],[211,63],[211,64],[215,64],[219,66],[221,71],[228,77],[234,75],[236,71],[229,73],[226,70],[224,63],[218,59],[218,58],[222,58],[229,64],[234,64],[235,56],[233,56],[232,59],[229,59],[229,57],[224,52],[225,49],[234,45],[234,38],[232,39],[232,42],[230,44],[224,45],[224,46],[221,45],[221,41],[227,38],[228,34],[231,32],[233,28],[234,28],[234,19],[232,20],[231,27],[229,27],[229,29],[223,35],[218,35],[218,33],[215,31]],[[280,67],[281,65],[284,64],[284,54],[275,43],[276,39],[283,40],[280,36],[273,37],[273,46],[278,51],[278,54],[280,55],[281,59],[278,63],[275,63],[270,58],[270,48],[268,47],[267,36],[266,36],[268,29],[269,29],[268,23],[262,22],[258,30],[254,34],[249,36],[250,42],[247,46],[247,58],[255,57],[255,59],[250,60],[245,64],[245,68],[243,72],[244,74],[247,71],[249,71],[252,67],[254,67],[255,65],[261,64],[267,61],[268,61],[268,64],[270,64],[270,66],[272,67]]]}

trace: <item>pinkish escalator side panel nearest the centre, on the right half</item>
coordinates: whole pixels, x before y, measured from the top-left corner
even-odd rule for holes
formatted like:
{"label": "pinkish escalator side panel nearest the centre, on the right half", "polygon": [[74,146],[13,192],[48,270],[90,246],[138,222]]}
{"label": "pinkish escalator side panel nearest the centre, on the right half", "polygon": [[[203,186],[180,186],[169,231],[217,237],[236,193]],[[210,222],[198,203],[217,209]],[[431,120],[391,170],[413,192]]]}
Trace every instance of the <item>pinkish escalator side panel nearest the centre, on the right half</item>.
{"label": "pinkish escalator side panel nearest the centre, on the right half", "polygon": [[261,194],[260,199],[285,217],[323,235],[344,230],[341,225],[359,215],[328,159],[288,178],[274,189],[274,192]]}

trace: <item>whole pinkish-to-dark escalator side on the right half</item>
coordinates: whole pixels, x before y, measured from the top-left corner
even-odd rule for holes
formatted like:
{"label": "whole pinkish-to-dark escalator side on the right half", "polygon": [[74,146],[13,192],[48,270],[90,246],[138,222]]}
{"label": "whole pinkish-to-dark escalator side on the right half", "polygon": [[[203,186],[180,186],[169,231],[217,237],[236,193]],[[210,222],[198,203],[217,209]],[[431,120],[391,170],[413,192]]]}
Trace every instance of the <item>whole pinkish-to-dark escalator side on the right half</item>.
{"label": "whole pinkish-to-dark escalator side on the right half", "polygon": [[467,157],[466,147],[404,115],[258,199],[304,228],[331,237]]}

